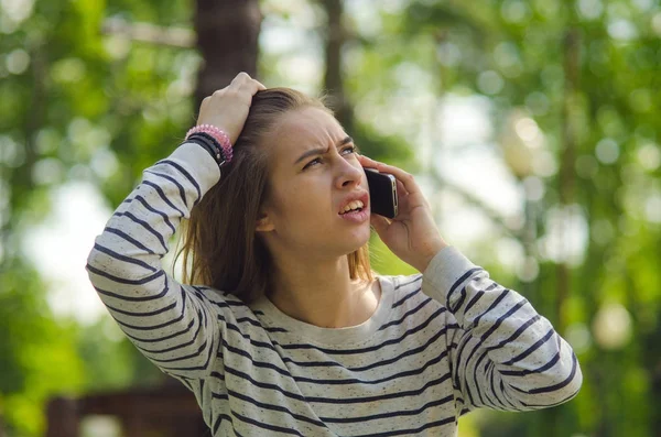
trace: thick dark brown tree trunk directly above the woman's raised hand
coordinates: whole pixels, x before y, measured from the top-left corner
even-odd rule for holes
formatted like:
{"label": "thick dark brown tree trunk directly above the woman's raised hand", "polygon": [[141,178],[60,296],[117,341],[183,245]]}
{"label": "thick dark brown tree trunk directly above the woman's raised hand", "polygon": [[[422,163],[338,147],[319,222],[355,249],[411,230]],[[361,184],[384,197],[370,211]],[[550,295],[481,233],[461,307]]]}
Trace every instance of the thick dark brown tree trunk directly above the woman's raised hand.
{"label": "thick dark brown tree trunk directly above the woman's raised hand", "polygon": [[196,107],[238,73],[257,76],[261,20],[258,0],[197,0],[195,31],[204,65],[197,77]]}

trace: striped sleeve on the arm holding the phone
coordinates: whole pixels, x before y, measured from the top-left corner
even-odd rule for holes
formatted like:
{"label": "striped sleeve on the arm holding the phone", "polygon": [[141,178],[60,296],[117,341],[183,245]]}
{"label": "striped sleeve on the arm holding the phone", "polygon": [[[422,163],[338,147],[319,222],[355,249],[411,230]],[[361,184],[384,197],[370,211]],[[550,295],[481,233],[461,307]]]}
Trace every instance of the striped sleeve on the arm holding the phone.
{"label": "striped sleeve on the arm holding the phone", "polygon": [[574,397],[583,381],[571,346],[519,293],[502,287],[458,250],[440,251],[423,292],[444,304],[459,414],[476,407],[539,409]]}

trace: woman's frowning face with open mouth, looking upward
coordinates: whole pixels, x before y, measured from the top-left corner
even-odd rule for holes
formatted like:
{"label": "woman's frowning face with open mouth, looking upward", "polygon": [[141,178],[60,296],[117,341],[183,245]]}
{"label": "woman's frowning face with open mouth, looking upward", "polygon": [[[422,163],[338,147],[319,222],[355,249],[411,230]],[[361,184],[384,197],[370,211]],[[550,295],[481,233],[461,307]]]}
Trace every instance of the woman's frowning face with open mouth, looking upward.
{"label": "woman's frowning face with open mouth, looking upward", "polygon": [[[271,149],[270,194],[258,231],[266,231],[272,249],[329,258],[369,240],[365,171],[333,116],[311,107],[290,111],[266,146]],[[345,214],[347,205],[361,210]]]}

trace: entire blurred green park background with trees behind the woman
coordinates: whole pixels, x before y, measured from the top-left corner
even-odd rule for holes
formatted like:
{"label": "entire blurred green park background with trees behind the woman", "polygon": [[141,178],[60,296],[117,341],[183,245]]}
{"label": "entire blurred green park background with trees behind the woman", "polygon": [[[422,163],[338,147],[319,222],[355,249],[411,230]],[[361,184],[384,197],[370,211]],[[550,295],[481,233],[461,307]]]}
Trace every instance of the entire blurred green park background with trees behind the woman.
{"label": "entire blurred green park background with trees behind the woman", "polygon": [[[82,436],[175,435],[99,401],[180,405],[84,266],[240,70],[326,91],[364,153],[416,175],[445,238],[574,347],[575,400],[476,412],[460,437],[661,436],[660,65],[659,0],[0,0],[0,436],[73,435],[53,430],[66,405],[87,405]],[[413,273],[377,240],[372,256]]]}

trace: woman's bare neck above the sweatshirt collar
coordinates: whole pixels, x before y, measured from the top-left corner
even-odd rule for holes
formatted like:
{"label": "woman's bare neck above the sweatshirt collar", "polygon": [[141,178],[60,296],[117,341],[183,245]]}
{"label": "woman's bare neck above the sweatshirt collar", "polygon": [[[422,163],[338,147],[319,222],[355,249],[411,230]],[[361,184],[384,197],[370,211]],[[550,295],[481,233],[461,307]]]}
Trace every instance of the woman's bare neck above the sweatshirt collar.
{"label": "woman's bare neck above the sweatshirt collar", "polygon": [[323,328],[360,325],[377,309],[378,282],[349,277],[347,256],[326,263],[278,263],[269,298],[288,316]]}

